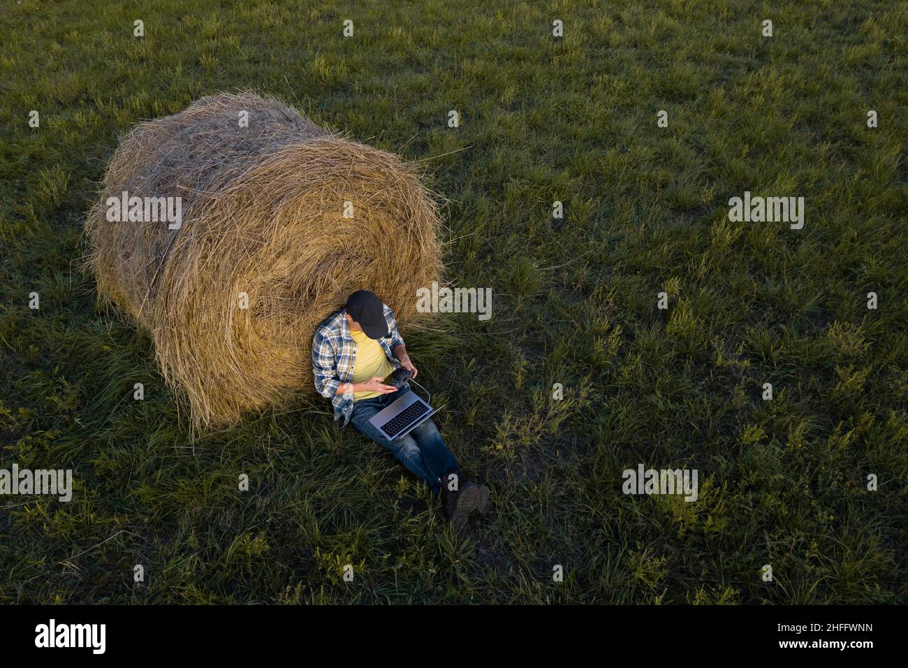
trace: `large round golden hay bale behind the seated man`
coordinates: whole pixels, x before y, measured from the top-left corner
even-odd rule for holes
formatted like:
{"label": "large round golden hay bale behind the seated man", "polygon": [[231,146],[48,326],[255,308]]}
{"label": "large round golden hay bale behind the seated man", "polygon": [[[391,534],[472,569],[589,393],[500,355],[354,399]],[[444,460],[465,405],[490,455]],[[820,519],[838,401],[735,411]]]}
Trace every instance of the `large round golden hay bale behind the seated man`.
{"label": "large round golden hay bale behind the seated man", "polygon": [[[112,222],[123,192],[182,198],[182,226]],[[432,196],[398,156],[252,94],[137,125],[86,222],[100,298],[148,329],[163,377],[207,426],[314,393],[312,334],[351,292],[411,322],[416,289],[439,280],[438,232]]]}

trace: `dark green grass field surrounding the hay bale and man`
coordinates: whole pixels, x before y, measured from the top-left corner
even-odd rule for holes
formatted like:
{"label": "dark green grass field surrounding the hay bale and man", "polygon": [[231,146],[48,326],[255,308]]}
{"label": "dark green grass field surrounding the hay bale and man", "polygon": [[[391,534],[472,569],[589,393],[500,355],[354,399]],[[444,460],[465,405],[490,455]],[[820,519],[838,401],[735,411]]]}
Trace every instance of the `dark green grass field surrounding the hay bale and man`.
{"label": "dark green grass field surrounding the hay bale and man", "polygon": [[[0,468],[75,487],[0,497],[0,603],[908,602],[908,5],[22,0],[0,23]],[[448,198],[446,278],[493,316],[402,334],[488,519],[451,531],[318,396],[193,433],[149,336],[96,304],[84,214],[118,135],[249,88]],[[804,228],[731,222],[745,191],[803,196]],[[696,468],[698,500],[622,494],[638,464]]]}

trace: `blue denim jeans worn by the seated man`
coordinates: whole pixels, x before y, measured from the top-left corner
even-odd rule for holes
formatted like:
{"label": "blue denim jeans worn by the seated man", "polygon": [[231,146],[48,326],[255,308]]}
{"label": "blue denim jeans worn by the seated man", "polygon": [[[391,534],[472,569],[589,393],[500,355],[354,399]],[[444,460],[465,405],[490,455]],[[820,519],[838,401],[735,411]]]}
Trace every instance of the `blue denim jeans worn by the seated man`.
{"label": "blue denim jeans worn by the seated man", "polygon": [[378,427],[369,424],[370,417],[408,392],[411,390],[401,388],[397,392],[380,394],[371,399],[360,399],[353,402],[353,414],[350,415],[350,422],[358,432],[390,450],[390,453],[400,460],[400,464],[426,481],[432,492],[438,494],[441,484],[439,478],[445,478],[447,481],[447,475],[454,473],[457,474],[459,480],[460,467],[457,459],[445,447],[445,442],[439,434],[439,428],[431,418],[420,424],[410,434],[393,441],[382,434]]}

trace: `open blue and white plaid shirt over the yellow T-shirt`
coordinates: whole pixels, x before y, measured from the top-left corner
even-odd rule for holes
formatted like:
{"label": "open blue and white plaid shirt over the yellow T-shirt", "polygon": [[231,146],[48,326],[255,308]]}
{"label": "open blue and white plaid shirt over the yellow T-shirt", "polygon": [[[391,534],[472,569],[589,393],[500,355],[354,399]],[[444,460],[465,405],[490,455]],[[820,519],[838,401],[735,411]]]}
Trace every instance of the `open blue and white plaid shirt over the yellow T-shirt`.
{"label": "open blue and white plaid shirt over the yellow T-shirt", "polygon": [[[403,339],[397,329],[397,321],[391,313],[388,304],[384,306],[385,320],[388,321],[388,336],[379,339],[379,344],[384,349],[394,369],[400,367],[400,362],[394,358],[392,351],[403,345]],[[321,396],[331,399],[334,404],[334,419],[340,420],[343,416],[343,425],[350,422],[353,414],[353,393],[337,394],[341,383],[351,383],[353,380],[353,367],[356,366],[356,342],[350,334],[350,324],[347,323],[347,311],[341,309],[331,315],[324,323],[319,325],[312,337],[312,375],[315,379],[315,389]]]}

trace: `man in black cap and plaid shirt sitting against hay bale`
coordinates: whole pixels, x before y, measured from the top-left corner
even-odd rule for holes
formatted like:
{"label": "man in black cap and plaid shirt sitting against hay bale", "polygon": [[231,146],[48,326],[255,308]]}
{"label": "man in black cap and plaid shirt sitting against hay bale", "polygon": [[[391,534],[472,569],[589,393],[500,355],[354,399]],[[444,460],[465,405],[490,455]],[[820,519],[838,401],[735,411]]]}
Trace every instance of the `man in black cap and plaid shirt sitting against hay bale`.
{"label": "man in black cap and plaid shirt sitting against hay bale", "polygon": [[[315,389],[334,404],[334,419],[344,418],[356,429],[390,450],[411,473],[429,484],[444,499],[448,518],[455,526],[472,513],[485,513],[489,489],[460,484],[460,466],[445,447],[438,426],[431,419],[393,441],[369,424],[369,419],[400,396],[382,381],[402,366],[417,369],[400,338],[394,314],[368,290],[350,294],[346,308],[331,315],[312,338],[312,374]],[[411,392],[405,385],[400,393]]]}

